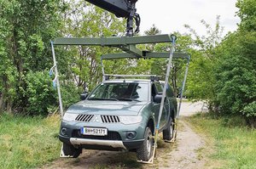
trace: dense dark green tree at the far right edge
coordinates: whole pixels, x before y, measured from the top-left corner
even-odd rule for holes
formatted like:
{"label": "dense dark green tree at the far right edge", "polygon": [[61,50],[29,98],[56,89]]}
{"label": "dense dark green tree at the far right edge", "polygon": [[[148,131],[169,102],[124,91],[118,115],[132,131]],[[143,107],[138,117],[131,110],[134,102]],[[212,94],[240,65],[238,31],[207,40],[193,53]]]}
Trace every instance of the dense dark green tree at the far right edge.
{"label": "dense dark green tree at the far right edge", "polygon": [[[256,124],[256,20],[255,1],[243,0],[236,4],[241,24],[218,47],[215,66],[215,104],[223,114],[247,117]],[[230,45],[231,44],[231,45]]]}

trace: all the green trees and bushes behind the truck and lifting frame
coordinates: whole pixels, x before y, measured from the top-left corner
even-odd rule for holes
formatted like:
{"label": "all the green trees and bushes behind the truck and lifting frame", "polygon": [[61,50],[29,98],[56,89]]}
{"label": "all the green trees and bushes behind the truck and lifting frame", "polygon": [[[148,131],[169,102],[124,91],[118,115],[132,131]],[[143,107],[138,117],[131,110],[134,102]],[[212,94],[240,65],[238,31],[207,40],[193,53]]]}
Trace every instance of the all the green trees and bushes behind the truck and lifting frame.
{"label": "all the green trees and bushes behind the truck and lifting frame", "polygon": [[[219,16],[213,28],[201,20],[207,29],[206,36],[199,36],[189,25],[185,27],[190,34],[174,32],[178,37],[176,51],[192,55],[185,94],[191,99],[209,101],[210,108],[217,112],[246,115],[250,119],[256,111],[254,3],[238,0],[241,24],[238,31],[223,41]],[[125,20],[83,0],[68,3],[3,0],[0,23],[0,110],[30,115],[46,115],[58,105],[45,71],[52,66],[50,39],[124,36],[125,33]],[[159,33],[155,25],[145,31],[147,35]],[[138,48],[167,52],[171,44],[138,45]],[[55,48],[64,107],[78,101],[86,85],[91,90],[102,81],[102,54],[120,52],[117,48],[102,47]],[[182,86],[185,61],[172,63],[171,80],[176,93]],[[107,73],[114,74],[165,76],[166,73],[166,59],[105,60],[104,65]]]}

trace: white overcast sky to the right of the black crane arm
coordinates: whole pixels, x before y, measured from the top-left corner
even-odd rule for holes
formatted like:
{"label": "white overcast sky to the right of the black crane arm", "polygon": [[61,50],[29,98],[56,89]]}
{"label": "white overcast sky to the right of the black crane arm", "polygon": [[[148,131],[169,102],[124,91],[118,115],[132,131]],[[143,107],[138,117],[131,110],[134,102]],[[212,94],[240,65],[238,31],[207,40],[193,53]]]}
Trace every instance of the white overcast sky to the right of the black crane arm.
{"label": "white overcast sky to the right of the black crane arm", "polygon": [[[157,2],[157,3],[156,3]],[[236,0],[138,0],[137,13],[141,16],[141,32],[152,25],[160,29],[162,34],[179,31],[189,32],[183,25],[190,25],[199,35],[206,34],[201,20],[214,27],[217,15],[220,25],[224,26],[224,35],[236,31]]]}

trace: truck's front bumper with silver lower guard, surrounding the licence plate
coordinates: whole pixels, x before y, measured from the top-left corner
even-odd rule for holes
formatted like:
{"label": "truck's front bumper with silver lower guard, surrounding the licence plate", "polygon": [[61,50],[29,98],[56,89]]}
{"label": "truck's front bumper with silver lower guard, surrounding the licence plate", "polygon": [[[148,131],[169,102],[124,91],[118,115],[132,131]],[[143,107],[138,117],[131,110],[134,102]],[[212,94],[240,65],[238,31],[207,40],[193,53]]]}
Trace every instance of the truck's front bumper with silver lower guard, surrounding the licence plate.
{"label": "truck's front bumper with silver lower guard, surrounding the licence plate", "polygon": [[[106,124],[91,124],[90,127],[106,127]],[[63,135],[61,132],[59,134],[59,139],[61,142],[66,144],[72,144],[75,147],[83,147],[84,149],[104,149],[104,150],[129,150],[139,148],[144,141],[144,128],[141,124],[136,125],[123,125],[123,124],[112,124],[108,125],[108,132],[118,132],[119,139],[110,138],[83,138],[74,135],[74,131],[79,131],[81,127],[89,126],[88,123],[83,122],[61,122],[61,128],[67,128],[67,134]],[[128,129],[129,128],[129,129]],[[135,138],[128,139],[126,137],[126,132],[136,131],[137,135]]]}

